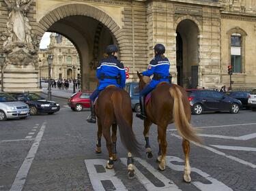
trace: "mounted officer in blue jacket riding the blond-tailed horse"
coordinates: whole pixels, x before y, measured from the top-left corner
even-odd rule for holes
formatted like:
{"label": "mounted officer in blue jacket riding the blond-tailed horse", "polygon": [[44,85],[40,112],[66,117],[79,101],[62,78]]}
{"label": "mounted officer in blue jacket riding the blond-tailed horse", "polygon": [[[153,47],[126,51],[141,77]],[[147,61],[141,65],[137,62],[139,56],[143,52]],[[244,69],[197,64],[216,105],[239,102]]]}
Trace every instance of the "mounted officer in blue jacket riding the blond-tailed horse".
{"label": "mounted officer in blue jacket riding the blond-tailed horse", "polygon": [[145,114],[145,96],[150,93],[160,82],[169,83],[169,67],[170,63],[168,58],[165,57],[165,46],[162,44],[156,44],[154,46],[155,57],[150,61],[150,65],[147,67],[147,71],[143,71],[142,75],[151,76],[154,75],[150,84],[145,86],[141,92],[139,92],[139,103],[141,106],[141,114],[137,114],[138,118],[144,120]]}

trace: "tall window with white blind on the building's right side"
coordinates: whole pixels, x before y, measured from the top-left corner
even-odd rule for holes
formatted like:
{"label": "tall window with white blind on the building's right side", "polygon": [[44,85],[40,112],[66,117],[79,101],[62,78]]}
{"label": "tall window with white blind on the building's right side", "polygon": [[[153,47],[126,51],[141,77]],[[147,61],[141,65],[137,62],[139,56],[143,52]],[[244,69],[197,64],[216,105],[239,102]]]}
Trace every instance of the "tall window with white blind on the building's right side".
{"label": "tall window with white blind on the building's right side", "polygon": [[231,65],[233,73],[242,73],[242,36],[239,33],[231,35]]}

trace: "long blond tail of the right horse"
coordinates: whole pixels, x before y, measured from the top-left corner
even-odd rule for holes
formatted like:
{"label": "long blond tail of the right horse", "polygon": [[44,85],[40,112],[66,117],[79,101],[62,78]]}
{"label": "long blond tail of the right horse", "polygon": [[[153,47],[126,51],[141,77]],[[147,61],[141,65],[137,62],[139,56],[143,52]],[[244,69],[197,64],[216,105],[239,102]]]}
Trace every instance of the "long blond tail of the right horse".
{"label": "long blond tail of the right horse", "polygon": [[184,103],[182,99],[184,96],[179,88],[173,86],[169,88],[171,97],[173,97],[173,118],[177,131],[182,135],[184,139],[188,141],[195,141],[202,143],[201,139],[197,137],[193,127],[190,125],[188,116],[185,114]]}

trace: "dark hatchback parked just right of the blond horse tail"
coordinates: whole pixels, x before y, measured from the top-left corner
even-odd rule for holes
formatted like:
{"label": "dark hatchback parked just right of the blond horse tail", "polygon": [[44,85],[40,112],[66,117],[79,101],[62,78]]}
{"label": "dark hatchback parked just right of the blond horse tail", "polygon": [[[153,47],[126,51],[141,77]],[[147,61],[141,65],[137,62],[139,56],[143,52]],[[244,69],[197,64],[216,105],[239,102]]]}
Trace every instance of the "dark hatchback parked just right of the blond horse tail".
{"label": "dark hatchback parked just right of the blond horse tail", "polygon": [[241,101],[215,90],[186,90],[192,114],[202,114],[203,111],[230,111],[237,114],[242,107]]}

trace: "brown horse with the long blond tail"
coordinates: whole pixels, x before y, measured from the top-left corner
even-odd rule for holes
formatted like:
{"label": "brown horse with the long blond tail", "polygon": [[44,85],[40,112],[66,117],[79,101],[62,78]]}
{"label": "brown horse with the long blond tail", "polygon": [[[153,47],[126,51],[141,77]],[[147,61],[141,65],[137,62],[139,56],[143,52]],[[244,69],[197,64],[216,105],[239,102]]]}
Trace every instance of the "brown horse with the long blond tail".
{"label": "brown horse with the long blond tail", "polygon": [[[139,72],[137,72],[137,75],[139,76],[139,89],[142,90],[150,78],[141,75]],[[201,139],[197,137],[193,128],[190,126],[191,110],[186,91],[181,86],[175,84],[158,84],[158,86],[151,92],[151,99],[145,106],[145,111],[147,118],[144,120],[143,135],[146,141],[145,148],[147,158],[152,158],[149,131],[150,126],[154,123],[158,126],[159,169],[162,171],[165,170],[167,126],[168,124],[175,122],[177,131],[183,138],[182,147],[185,154],[184,181],[190,182],[189,141],[201,143]]]}

